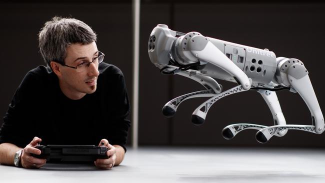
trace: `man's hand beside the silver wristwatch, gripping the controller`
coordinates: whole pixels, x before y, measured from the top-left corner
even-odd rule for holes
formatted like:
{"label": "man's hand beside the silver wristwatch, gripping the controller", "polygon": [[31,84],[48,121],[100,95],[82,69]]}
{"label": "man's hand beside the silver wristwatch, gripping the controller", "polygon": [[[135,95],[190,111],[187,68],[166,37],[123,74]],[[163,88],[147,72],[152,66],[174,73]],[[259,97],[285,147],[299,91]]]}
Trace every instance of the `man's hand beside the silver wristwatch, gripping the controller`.
{"label": "man's hand beside the silver wristwatch, gripping the controller", "polygon": [[41,139],[35,136],[34,139],[32,139],[31,142],[26,145],[25,148],[22,149],[20,157],[22,167],[40,168],[46,163],[46,159],[39,159],[31,156],[31,153],[38,155],[41,153],[39,149],[35,148],[35,146],[38,145],[39,142],[41,142]]}

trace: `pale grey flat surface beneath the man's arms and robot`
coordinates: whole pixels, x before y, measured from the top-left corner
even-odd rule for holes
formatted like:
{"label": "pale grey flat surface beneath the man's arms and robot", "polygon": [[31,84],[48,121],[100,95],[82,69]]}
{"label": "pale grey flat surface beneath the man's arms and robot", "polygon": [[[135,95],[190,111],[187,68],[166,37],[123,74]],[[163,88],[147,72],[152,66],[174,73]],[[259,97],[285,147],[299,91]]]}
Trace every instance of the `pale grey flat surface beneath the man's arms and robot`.
{"label": "pale grey flat surface beneath the man's arms and robot", "polygon": [[0,165],[0,182],[325,182],[325,149],[128,147],[121,165],[110,170]]}

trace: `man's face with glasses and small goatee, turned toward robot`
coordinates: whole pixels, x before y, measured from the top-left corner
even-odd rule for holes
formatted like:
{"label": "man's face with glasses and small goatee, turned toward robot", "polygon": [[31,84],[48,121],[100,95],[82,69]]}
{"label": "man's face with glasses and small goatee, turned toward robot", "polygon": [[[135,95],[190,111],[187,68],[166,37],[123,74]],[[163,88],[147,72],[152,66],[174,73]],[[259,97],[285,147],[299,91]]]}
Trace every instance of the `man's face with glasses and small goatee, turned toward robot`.
{"label": "man's face with glasses and small goatee, turned toward robot", "polygon": [[[66,48],[65,65],[76,67],[83,62],[91,62],[98,56],[95,42],[90,44],[74,43]],[[59,84],[62,92],[71,99],[79,99],[86,93],[96,90],[98,64],[90,63],[84,70],[77,71],[60,65]]]}

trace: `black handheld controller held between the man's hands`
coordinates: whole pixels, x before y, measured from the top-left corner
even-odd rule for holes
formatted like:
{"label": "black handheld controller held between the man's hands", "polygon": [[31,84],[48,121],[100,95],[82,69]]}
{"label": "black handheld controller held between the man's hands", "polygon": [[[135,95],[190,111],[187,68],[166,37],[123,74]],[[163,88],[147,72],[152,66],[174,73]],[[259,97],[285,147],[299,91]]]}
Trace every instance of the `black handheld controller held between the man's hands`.
{"label": "black handheld controller held between the man's hands", "polygon": [[46,159],[47,162],[85,162],[108,158],[106,146],[94,145],[37,145],[41,153],[33,157]]}

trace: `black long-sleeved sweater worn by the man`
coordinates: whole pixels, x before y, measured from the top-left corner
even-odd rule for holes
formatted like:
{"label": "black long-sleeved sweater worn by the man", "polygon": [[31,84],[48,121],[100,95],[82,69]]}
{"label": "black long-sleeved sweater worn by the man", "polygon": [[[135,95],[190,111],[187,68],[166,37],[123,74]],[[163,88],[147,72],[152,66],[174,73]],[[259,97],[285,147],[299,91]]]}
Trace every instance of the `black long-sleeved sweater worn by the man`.
{"label": "black long-sleeved sweater worn by the man", "polygon": [[62,93],[49,67],[27,72],[3,117],[0,143],[25,147],[38,136],[43,145],[98,145],[106,138],[125,149],[130,121],[123,73],[104,62],[98,70],[96,91],[78,100]]}

